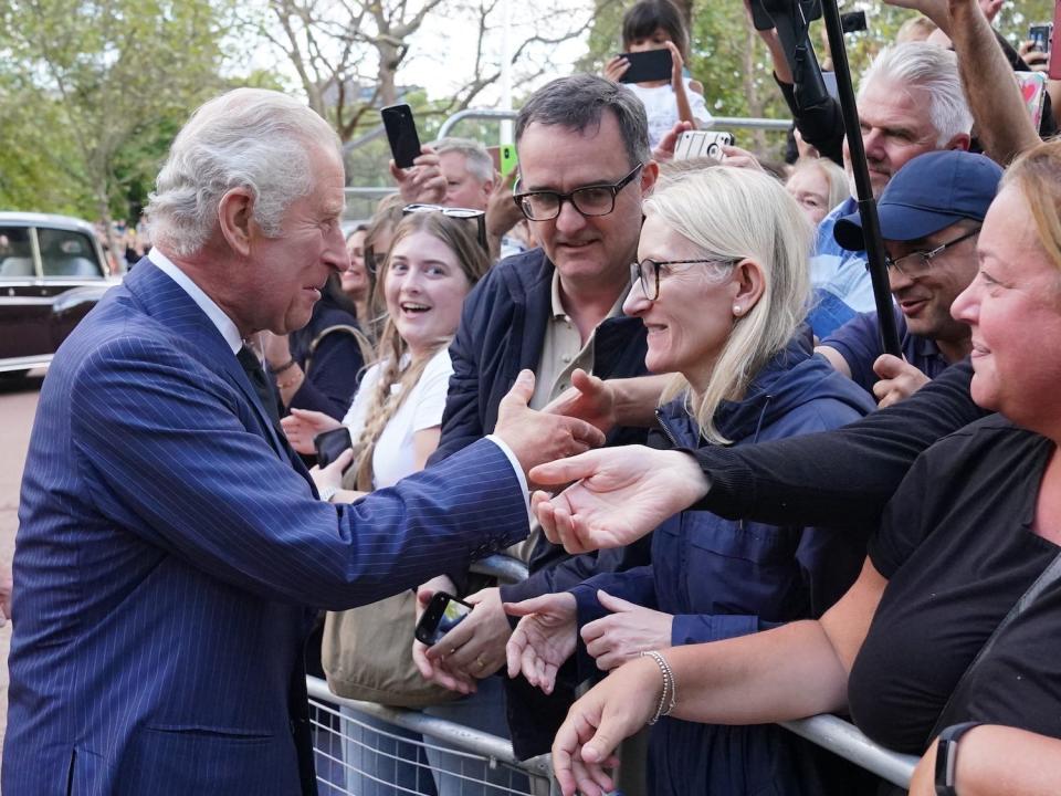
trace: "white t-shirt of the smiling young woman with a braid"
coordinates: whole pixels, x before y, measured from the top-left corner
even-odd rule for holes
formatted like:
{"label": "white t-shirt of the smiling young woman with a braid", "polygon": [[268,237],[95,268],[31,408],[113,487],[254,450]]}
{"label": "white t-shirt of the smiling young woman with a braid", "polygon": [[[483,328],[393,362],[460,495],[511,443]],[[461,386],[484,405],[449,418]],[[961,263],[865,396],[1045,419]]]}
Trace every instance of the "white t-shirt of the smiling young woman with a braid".
{"label": "white t-shirt of the smiling young woman with a braid", "polygon": [[[361,379],[354,396],[349,411],[343,418],[343,425],[350,429],[350,437],[357,442],[365,428],[365,413],[372,399],[380,374],[386,363],[376,363]],[[450,388],[453,364],[450,352],[442,348],[431,357],[420,379],[412,386],[409,397],[395,412],[384,428],[372,452],[372,488],[393,486],[398,481],[416,472],[416,453],[412,438],[417,431],[442,425],[442,410],[445,409],[445,394]],[[392,390],[398,385],[391,386]]]}

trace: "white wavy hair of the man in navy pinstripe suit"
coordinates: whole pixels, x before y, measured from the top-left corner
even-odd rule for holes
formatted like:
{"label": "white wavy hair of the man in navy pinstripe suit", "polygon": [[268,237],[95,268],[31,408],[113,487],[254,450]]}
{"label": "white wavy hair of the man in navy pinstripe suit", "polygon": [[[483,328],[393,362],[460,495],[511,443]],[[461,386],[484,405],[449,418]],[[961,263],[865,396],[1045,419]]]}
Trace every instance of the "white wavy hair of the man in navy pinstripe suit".
{"label": "white wavy hair of the man in navy pinstripe suit", "polygon": [[233,188],[250,189],[254,221],[266,235],[280,235],[287,206],[314,188],[314,147],[342,161],[335,132],[284,94],[235,88],[204,103],[174,140],[149,197],[156,243],[178,256],[200,251]]}

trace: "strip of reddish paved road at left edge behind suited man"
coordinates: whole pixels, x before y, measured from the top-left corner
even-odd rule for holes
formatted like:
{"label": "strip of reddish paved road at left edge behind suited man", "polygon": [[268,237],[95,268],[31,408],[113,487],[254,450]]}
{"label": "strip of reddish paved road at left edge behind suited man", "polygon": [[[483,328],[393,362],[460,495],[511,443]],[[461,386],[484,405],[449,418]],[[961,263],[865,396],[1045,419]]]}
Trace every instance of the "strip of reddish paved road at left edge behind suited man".
{"label": "strip of reddish paved road at left edge behind suited man", "polygon": [[[40,377],[0,378],[0,567],[10,569],[19,526],[19,483],[36,411]],[[8,725],[8,648],[11,625],[0,628],[0,741]]]}

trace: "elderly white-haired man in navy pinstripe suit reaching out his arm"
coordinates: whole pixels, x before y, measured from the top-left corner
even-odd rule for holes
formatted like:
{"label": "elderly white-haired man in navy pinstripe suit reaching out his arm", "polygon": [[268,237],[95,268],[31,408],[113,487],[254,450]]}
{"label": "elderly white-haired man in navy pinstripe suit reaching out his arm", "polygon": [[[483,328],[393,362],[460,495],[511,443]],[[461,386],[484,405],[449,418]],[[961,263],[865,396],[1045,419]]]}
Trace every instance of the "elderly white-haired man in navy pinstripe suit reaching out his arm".
{"label": "elderly white-haired man in navy pinstripe suit reaching out his arm", "polygon": [[314,793],[302,641],[527,533],[524,471],[601,440],[526,408],[346,506],[318,499],[244,341],[346,268],[339,142],[238,90],[178,135],[156,249],[55,356],[15,543],[3,792]]}

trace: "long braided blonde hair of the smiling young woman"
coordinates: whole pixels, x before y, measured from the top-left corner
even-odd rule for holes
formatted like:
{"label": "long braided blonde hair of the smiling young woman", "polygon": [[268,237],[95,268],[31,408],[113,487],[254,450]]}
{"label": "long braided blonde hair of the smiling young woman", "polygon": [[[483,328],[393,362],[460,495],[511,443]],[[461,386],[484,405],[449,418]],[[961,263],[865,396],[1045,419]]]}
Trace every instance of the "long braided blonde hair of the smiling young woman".
{"label": "long braided blonde hair of the smiling young woman", "polygon": [[[395,229],[395,239],[390,244],[390,251],[387,252],[387,260],[380,269],[380,285],[387,279],[387,272],[390,270],[395,247],[399,241],[416,232],[427,232],[449,247],[450,251],[456,256],[456,261],[464,271],[470,285],[479,282],[490,268],[490,259],[479,245],[466,220],[452,219],[439,212],[412,213],[406,216]],[[380,290],[380,292],[382,291]],[[413,386],[420,380],[428,363],[449,343],[450,338],[439,341],[431,350],[410,362],[402,369],[403,360],[409,353],[409,346],[398,334],[398,327],[395,325],[393,318],[387,318],[377,347],[377,362],[381,363],[381,373],[365,412],[365,428],[354,446],[358,454],[349,472],[356,473],[356,489],[363,492],[371,491],[372,455],[376,452],[376,443],[379,441],[380,434],[405,404]],[[397,390],[392,389],[393,385],[397,385]]]}

